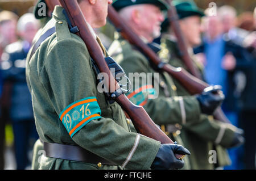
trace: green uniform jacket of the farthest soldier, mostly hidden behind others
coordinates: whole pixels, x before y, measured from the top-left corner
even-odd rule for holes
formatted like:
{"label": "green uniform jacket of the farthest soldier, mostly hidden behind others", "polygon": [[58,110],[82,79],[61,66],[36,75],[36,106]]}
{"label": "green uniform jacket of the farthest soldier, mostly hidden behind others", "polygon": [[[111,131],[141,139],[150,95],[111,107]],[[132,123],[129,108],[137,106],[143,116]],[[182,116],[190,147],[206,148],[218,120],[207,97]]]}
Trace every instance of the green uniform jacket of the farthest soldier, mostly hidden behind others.
{"label": "green uniform jacket of the farthest soldier, mostly hidden behind others", "polygon": [[[159,53],[159,56],[163,60],[172,66],[187,69],[183,61],[181,61],[177,44],[174,41],[164,36],[161,47],[162,51]],[[201,72],[203,71],[203,66],[195,60],[193,63]],[[189,95],[188,91],[176,79],[174,79],[174,83],[177,87],[177,95]],[[230,124],[213,120],[212,116],[204,114],[200,115],[200,122],[200,124],[193,125],[192,127],[184,125],[181,132],[184,145],[191,151],[191,157],[189,158],[192,169],[214,169],[217,166],[230,165],[229,155],[224,148],[230,146],[236,128]],[[211,156],[210,150],[217,151],[217,164],[215,165],[208,161]]]}

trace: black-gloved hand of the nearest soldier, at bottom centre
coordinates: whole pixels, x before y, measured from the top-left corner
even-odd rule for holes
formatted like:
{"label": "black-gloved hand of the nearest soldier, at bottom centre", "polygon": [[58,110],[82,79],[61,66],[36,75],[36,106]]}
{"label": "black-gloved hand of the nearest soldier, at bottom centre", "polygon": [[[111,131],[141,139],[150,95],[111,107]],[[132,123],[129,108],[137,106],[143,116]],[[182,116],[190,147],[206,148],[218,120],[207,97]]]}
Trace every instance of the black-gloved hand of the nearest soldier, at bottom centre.
{"label": "black-gloved hand of the nearest soldier, at bottom centre", "polygon": [[181,145],[162,144],[151,165],[151,169],[181,169],[184,166],[184,161],[177,159],[175,154],[190,155],[190,152]]}

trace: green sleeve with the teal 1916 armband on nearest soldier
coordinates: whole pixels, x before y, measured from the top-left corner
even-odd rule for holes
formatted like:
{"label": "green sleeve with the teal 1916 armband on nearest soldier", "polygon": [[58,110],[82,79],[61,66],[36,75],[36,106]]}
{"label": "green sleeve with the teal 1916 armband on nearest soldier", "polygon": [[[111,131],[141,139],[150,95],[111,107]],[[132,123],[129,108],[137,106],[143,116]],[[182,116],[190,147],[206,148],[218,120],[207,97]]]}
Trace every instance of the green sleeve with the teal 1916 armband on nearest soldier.
{"label": "green sleeve with the teal 1916 armband on nearest soldier", "polygon": [[[50,47],[40,74],[47,76],[50,86],[45,86],[46,92],[59,121],[76,144],[123,168],[150,169],[160,142],[128,132],[116,123],[121,120],[104,117],[113,107],[100,107],[100,102],[95,100],[98,94],[96,78],[88,50],[79,37],[72,35],[57,40]],[[93,105],[89,105],[88,100],[93,101],[90,102]],[[80,104],[82,102],[86,103]],[[71,107],[75,111],[70,112]],[[82,115],[77,113],[79,111]],[[96,116],[90,117],[93,113]],[[81,121],[76,123],[77,120]]]}

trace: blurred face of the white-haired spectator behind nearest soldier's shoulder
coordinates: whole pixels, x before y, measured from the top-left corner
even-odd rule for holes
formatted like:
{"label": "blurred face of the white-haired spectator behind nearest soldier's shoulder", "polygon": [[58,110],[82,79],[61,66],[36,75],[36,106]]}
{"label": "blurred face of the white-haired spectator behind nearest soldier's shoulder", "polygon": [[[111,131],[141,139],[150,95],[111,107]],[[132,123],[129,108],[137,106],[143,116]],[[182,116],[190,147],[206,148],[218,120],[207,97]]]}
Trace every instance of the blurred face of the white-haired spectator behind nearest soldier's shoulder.
{"label": "blurred face of the white-haired spectator behind nearest soldier's shoulder", "polygon": [[19,32],[19,36],[23,39],[32,43],[36,32],[39,30],[39,26],[36,23],[27,23],[24,30]]}

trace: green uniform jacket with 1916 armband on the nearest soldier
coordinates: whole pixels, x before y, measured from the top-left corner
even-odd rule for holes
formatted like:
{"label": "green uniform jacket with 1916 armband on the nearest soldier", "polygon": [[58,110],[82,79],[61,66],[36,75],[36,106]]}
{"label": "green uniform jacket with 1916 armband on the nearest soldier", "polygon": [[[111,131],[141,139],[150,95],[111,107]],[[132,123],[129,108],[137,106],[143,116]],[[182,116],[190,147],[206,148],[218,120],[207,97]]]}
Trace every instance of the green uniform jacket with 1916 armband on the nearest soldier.
{"label": "green uniform jacket with 1916 armband on the nearest soldier", "polygon": [[52,26],[56,33],[27,59],[36,129],[42,141],[79,145],[114,165],[98,167],[42,156],[39,169],[150,169],[160,142],[131,132],[121,107],[97,91],[88,49],[79,36],[69,32],[62,11],[55,7],[41,35]]}

